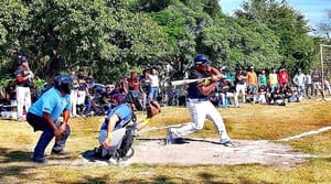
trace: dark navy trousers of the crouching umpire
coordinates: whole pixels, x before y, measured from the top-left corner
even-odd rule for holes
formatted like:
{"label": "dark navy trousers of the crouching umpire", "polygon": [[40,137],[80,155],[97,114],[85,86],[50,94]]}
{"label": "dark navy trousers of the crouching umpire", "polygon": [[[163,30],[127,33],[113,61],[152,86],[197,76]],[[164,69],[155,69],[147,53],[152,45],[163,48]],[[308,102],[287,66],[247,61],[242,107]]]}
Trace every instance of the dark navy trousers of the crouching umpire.
{"label": "dark navy trousers of the crouching umpire", "polygon": [[[54,131],[44,121],[44,119],[42,117],[39,117],[36,115],[28,112],[26,120],[33,127],[34,131],[39,131],[39,130],[43,131],[43,133],[41,134],[35,148],[34,148],[34,153],[33,153],[33,158],[43,158],[46,147],[54,138]],[[62,122],[56,121],[55,125],[58,128],[62,125]],[[71,134],[71,127],[66,126],[66,131],[62,134],[61,140],[55,141],[52,150],[62,151],[65,147],[65,142],[70,134]]]}

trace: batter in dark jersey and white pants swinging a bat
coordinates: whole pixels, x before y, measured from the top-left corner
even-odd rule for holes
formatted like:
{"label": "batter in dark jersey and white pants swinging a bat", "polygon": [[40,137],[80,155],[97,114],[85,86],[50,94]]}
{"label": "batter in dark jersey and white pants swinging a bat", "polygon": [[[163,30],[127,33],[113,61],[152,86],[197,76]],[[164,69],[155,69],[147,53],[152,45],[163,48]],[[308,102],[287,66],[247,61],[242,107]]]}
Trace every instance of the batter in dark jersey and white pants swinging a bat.
{"label": "batter in dark jersey and white pants swinging a bat", "polygon": [[177,143],[179,138],[201,130],[205,119],[210,119],[215,125],[220,134],[220,143],[225,147],[234,147],[226,133],[226,129],[221,113],[210,101],[210,96],[214,90],[217,80],[225,76],[220,71],[211,66],[212,62],[204,54],[197,54],[194,57],[194,66],[190,69],[189,78],[197,79],[212,77],[210,80],[191,83],[188,88],[186,107],[191,113],[192,122],[181,128],[170,128],[167,134],[167,144]]}

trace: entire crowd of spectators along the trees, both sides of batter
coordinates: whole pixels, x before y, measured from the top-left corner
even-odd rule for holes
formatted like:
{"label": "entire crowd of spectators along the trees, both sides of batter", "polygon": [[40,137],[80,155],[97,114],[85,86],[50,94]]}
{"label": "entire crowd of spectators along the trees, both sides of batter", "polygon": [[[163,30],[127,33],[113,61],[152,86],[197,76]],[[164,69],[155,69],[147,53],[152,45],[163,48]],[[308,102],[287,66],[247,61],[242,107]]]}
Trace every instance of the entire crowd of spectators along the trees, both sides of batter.
{"label": "entire crowd of spectators along the trees, both sides of batter", "polygon": [[[232,74],[229,68],[223,66],[220,71],[226,75],[226,78],[218,80],[211,96],[211,101],[220,108],[239,108],[241,104],[248,102],[286,106],[287,102],[299,102],[312,97],[324,98],[324,95],[331,95],[330,74],[325,73],[322,77],[316,68],[307,74],[298,68],[292,77],[286,68],[256,72],[254,66],[248,69],[238,67]],[[77,74],[72,69],[70,75],[74,80],[71,94],[72,117],[105,115],[114,107],[113,97],[116,94],[126,95],[128,91],[131,91],[140,104],[136,106],[136,110],[145,110],[150,100],[158,100],[161,105],[169,106],[185,105],[184,89],[170,86],[168,89],[160,90],[160,80],[154,68],[143,69],[141,74],[130,71],[129,76],[122,76],[118,82],[109,84],[96,83],[92,74],[86,75],[82,68]],[[323,85],[322,78],[324,78]],[[7,98],[11,101],[15,100],[14,85],[15,83],[11,82],[6,88]],[[32,90],[32,102],[47,88],[50,84],[45,84],[39,93]]]}

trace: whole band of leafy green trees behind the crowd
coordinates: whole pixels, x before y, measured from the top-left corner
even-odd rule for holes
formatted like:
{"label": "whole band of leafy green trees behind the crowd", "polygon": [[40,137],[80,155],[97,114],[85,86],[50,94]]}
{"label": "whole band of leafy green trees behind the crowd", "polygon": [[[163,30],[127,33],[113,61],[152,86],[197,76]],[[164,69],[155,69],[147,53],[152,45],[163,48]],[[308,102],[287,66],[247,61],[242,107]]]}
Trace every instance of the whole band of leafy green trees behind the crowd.
{"label": "whole band of leafy green trees behind the crowd", "polygon": [[236,18],[223,15],[216,0],[9,0],[0,7],[1,76],[12,76],[21,54],[40,78],[83,67],[105,83],[145,67],[182,78],[197,53],[232,68],[308,69],[318,59],[319,41],[287,1],[246,1]]}

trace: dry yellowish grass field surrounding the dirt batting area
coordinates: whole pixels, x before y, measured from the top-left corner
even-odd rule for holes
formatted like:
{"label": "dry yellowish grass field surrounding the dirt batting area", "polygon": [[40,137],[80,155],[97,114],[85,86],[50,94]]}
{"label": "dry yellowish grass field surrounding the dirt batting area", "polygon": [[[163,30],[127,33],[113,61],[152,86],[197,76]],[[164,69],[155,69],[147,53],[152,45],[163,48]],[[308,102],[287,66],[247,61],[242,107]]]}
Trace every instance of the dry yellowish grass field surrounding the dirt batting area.
{"label": "dry yellowish grass field surrounding the dirt batting area", "polygon": [[[331,126],[331,102],[309,100],[286,107],[244,105],[241,109],[220,109],[228,134],[233,139],[279,140],[306,131]],[[138,119],[143,118],[138,113]],[[182,107],[164,107],[152,119],[151,127],[163,127],[190,121]],[[0,120],[0,183],[330,183],[331,131],[284,143],[296,150],[319,155],[292,167],[261,164],[241,165],[147,165],[130,166],[76,163],[76,159],[98,144],[97,136],[103,117],[73,118],[67,149],[72,155],[58,159],[58,164],[32,163],[31,154],[40,132],[28,123]],[[167,129],[141,131],[143,138],[162,139]],[[190,137],[214,137],[211,122]],[[136,143],[139,143],[137,141]],[[47,148],[47,153],[50,153]],[[53,159],[54,160],[54,159]],[[64,162],[75,162],[62,164]]]}

